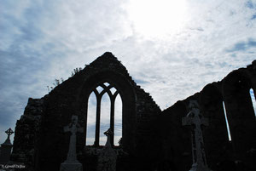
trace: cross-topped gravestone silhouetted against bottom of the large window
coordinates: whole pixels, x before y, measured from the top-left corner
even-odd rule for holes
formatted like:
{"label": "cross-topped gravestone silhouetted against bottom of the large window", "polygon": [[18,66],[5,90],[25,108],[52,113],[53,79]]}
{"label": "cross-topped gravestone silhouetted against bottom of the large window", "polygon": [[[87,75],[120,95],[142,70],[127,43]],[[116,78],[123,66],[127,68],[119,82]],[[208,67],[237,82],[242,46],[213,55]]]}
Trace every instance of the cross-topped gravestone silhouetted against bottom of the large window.
{"label": "cross-topped gravestone silhouetted against bottom of the large window", "polygon": [[110,143],[113,132],[110,128],[108,128],[108,131],[106,131],[104,134],[108,138],[106,145],[103,147],[102,151],[99,154],[97,171],[115,171],[117,155],[115,154],[115,151],[113,151]]}

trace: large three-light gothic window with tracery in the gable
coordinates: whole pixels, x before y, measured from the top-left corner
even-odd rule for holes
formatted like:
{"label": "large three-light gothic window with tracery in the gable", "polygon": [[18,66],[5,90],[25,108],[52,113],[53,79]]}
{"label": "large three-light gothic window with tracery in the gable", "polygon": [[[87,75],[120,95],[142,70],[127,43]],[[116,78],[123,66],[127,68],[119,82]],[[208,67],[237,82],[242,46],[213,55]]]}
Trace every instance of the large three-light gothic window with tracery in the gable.
{"label": "large three-light gothic window with tracery in the gable", "polygon": [[122,136],[122,100],[119,91],[110,83],[100,83],[88,100],[86,145],[105,145],[103,134],[111,128],[112,145],[119,145]]}

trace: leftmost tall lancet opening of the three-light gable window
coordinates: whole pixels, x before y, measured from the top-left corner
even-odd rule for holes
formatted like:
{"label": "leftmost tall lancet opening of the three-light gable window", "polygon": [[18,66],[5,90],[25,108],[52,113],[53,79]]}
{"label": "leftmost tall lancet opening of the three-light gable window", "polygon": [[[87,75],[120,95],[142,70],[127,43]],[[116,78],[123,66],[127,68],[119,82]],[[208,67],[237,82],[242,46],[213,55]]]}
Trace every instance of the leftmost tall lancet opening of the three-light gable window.
{"label": "leftmost tall lancet opening of the three-light gable window", "polygon": [[96,94],[91,92],[88,100],[86,145],[93,145],[96,131]]}

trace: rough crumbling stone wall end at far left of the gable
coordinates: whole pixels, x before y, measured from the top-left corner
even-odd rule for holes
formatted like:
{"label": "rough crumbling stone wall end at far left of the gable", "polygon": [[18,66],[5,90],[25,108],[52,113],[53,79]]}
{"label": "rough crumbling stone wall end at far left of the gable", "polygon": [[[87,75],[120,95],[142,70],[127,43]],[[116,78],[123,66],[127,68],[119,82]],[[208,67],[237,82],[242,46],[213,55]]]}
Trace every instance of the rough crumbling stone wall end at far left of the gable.
{"label": "rough crumbling stone wall end at far left of the gable", "polygon": [[44,116],[44,99],[46,98],[38,100],[29,98],[24,114],[16,123],[11,160],[24,163],[27,171],[33,170],[36,164],[40,126]]}

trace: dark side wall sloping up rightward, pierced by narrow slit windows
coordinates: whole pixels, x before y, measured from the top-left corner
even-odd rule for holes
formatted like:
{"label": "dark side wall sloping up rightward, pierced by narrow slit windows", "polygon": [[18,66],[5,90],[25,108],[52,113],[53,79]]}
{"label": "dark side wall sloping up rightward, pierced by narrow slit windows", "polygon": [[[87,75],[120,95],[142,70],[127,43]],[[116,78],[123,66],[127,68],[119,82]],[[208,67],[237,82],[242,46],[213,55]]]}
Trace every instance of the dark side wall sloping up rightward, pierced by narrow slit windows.
{"label": "dark side wall sloping up rightward, pierced by narrow slit windows", "polygon": [[[207,162],[212,170],[256,170],[256,120],[250,88],[256,92],[256,61],[230,72],[221,82],[207,84],[201,92],[177,101],[159,116],[159,170],[186,171],[191,168],[191,134],[182,126],[182,117],[189,113],[189,100],[199,102],[201,112],[209,119],[203,127]],[[230,123],[229,141],[224,118],[224,105]],[[165,168],[166,167],[166,168]]]}

